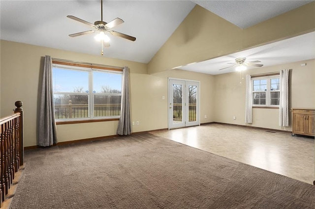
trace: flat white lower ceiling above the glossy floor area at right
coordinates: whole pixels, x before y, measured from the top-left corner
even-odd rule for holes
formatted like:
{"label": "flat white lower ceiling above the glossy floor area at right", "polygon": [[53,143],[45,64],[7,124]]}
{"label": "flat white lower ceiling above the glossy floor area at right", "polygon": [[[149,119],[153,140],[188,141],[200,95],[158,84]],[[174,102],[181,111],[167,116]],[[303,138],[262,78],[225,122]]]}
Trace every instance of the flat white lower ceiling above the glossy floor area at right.
{"label": "flat white lower ceiling above the glossy floor area at right", "polygon": [[[234,64],[227,63],[235,63],[235,59],[239,57],[246,57],[246,61],[259,60],[261,62],[256,64],[263,64],[263,67],[314,59],[315,32],[177,68],[211,75],[231,73],[235,71],[235,67],[229,66]],[[220,70],[225,67],[229,68]],[[257,67],[247,67],[254,68]]]}

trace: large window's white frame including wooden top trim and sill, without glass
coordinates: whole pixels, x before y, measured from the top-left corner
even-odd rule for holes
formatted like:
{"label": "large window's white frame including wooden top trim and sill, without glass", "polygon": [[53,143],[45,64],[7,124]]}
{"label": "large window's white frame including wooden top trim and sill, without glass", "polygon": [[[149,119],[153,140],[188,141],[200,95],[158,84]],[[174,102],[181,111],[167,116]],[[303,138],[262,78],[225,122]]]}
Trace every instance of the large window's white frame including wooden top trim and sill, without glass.
{"label": "large window's white frame including wooden top trim and sill, without glass", "polygon": [[95,104],[94,96],[95,95],[110,95],[110,96],[121,96],[121,93],[94,93],[93,92],[93,72],[109,73],[109,74],[119,74],[122,76],[123,82],[123,68],[98,65],[91,63],[82,63],[82,62],[72,62],[66,60],[53,59],[53,69],[58,67],[65,70],[73,70],[79,72],[88,72],[88,88],[89,92],[55,92],[53,94],[60,95],[87,95],[88,96],[88,117],[84,118],[56,118],[57,124],[73,124],[73,123],[86,123],[86,122],[99,122],[99,121],[115,121],[119,120],[120,115],[118,116],[94,116]]}

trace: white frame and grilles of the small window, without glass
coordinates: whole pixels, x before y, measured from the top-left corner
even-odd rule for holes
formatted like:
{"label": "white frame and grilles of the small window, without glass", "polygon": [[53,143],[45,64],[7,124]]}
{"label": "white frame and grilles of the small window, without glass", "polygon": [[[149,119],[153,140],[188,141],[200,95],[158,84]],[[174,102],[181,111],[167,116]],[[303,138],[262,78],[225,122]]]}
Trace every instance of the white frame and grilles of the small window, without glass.
{"label": "white frame and grilles of the small window, without glass", "polygon": [[[252,107],[253,108],[279,108],[279,104],[278,105],[273,105],[271,104],[271,93],[272,92],[279,92],[279,103],[280,103],[280,86],[279,86],[279,90],[271,90],[271,79],[274,78],[279,78],[279,83],[280,83],[280,75],[276,74],[276,75],[264,75],[264,76],[255,76],[252,77],[251,82],[252,82],[252,89],[251,89],[251,93],[252,93]],[[266,80],[266,91],[254,91],[253,89],[253,83],[254,80]],[[254,93],[258,93],[258,92],[266,92],[266,103],[265,104],[254,104],[253,103],[253,94]]]}

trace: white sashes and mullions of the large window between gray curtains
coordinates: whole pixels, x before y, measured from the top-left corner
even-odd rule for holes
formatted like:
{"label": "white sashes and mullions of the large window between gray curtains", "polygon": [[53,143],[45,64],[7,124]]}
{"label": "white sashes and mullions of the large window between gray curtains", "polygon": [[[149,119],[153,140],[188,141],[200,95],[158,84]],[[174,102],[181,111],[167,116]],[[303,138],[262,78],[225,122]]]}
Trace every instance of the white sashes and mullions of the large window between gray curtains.
{"label": "white sashes and mullions of the large window between gray curtains", "polygon": [[[103,70],[103,69],[95,69],[95,68],[87,68],[87,67],[78,67],[78,66],[69,66],[63,64],[53,64],[53,68],[60,68],[65,70],[73,70],[73,71],[81,71],[81,72],[88,72],[89,73],[89,93],[86,92],[53,92],[53,94],[68,94],[68,95],[88,95],[88,117],[86,118],[56,118],[56,122],[67,122],[67,121],[97,121],[101,119],[119,119],[120,116],[94,116],[94,95],[110,95],[110,96],[120,96],[121,94],[117,93],[93,93],[93,72],[103,72],[109,74],[119,74],[123,75],[121,71],[113,71],[113,70]],[[122,77],[123,82],[123,77]]]}

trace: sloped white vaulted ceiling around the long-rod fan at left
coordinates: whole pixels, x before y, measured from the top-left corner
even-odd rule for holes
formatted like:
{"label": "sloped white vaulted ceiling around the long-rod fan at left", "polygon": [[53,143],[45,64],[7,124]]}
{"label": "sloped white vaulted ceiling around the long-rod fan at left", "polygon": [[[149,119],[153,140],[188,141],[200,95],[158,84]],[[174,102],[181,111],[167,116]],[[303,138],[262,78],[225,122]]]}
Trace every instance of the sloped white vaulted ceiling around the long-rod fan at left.
{"label": "sloped white vaulted ceiling around the long-rod fan at left", "polygon": [[[1,0],[1,39],[100,55],[95,34],[71,38],[68,34],[94,29],[67,18],[90,23],[101,20],[100,0]],[[136,37],[132,42],[109,35],[104,56],[148,63],[195,6],[192,1],[104,0],[103,21],[119,17],[113,30]]]}

